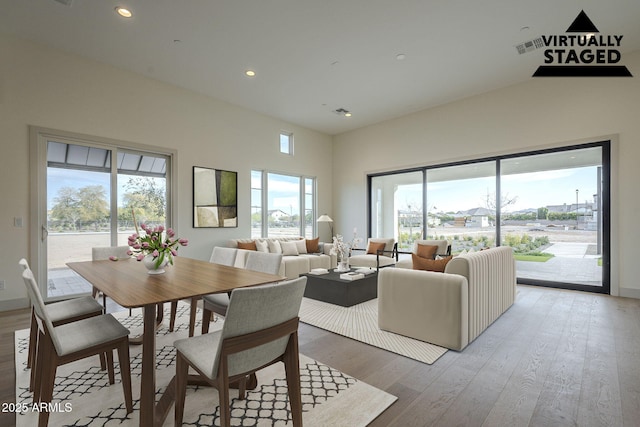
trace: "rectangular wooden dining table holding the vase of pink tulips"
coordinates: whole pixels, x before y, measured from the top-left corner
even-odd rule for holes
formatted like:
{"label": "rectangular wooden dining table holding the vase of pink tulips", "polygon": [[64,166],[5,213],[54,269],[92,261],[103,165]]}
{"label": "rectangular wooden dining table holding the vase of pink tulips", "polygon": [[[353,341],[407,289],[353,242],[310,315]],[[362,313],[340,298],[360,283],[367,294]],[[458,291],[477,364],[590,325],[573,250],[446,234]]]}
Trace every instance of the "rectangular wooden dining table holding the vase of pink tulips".
{"label": "rectangular wooden dining table holding the vase of pink tulips", "polygon": [[155,401],[155,331],[162,305],[285,279],[185,257],[175,257],[174,265],[167,266],[163,274],[148,274],[134,259],[70,262],[67,266],[121,306],[143,308],[140,425],[145,427],[162,425],[174,401],[171,385],[157,404]]}

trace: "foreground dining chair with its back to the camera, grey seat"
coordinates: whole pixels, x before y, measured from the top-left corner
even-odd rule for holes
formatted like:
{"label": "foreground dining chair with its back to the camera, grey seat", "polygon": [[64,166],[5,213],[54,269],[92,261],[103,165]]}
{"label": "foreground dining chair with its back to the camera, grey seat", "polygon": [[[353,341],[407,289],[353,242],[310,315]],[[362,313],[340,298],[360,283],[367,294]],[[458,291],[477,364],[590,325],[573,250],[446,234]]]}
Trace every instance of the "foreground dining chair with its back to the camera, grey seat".
{"label": "foreground dining chair with its back to the camera, grey seat", "polygon": [[307,278],[231,292],[221,330],[174,343],[175,425],[182,425],[189,367],[218,389],[220,425],[230,425],[229,384],[239,383],[244,399],[248,375],[284,362],[294,426],[302,425],[298,313]]}

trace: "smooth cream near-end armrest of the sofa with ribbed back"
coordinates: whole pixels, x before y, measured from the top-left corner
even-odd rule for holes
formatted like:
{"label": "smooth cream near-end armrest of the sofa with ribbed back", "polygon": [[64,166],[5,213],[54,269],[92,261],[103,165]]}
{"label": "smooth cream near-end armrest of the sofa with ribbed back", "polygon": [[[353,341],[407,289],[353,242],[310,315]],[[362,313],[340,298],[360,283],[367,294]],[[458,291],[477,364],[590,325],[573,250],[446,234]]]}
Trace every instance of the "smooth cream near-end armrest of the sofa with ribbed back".
{"label": "smooth cream near-end armrest of the sofa with ribbed back", "polygon": [[462,350],[468,338],[467,279],[457,274],[384,268],[378,275],[378,326]]}

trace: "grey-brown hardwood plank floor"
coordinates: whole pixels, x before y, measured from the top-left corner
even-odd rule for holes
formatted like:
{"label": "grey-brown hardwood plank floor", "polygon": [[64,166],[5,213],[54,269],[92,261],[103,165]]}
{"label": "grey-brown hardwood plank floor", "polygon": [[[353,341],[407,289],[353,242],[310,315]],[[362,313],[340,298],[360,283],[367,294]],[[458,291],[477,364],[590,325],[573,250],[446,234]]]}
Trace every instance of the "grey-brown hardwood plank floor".
{"label": "grey-brown hardwood plank floor", "polygon": [[[0,314],[0,395],[15,399],[13,331]],[[309,325],[300,352],[398,397],[376,426],[636,426],[640,300],[518,286],[516,303],[462,352],[429,366]],[[15,424],[0,414],[0,425]]]}

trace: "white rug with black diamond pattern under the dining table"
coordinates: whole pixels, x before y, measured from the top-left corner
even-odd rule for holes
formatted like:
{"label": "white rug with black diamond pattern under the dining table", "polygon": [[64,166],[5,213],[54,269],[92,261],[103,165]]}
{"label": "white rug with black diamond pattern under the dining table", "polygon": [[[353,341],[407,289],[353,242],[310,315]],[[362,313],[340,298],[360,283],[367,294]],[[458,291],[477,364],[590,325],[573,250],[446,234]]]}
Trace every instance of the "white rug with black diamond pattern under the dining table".
{"label": "white rug with black diamond pattern under the dining table", "polygon": [[[133,315],[121,312],[115,316],[131,331],[142,326],[140,311]],[[175,331],[168,331],[168,309],[164,325],[156,339],[157,398],[175,374],[173,342],[188,335],[189,306],[180,304]],[[202,316],[199,313],[198,319]],[[221,328],[222,320],[212,323],[210,331]],[[196,331],[199,330],[196,325]],[[16,413],[18,427],[37,425],[38,407],[31,404],[28,391],[29,369],[26,368],[28,330],[16,331]],[[134,412],[127,415],[116,360],[116,383],[109,385],[106,371],[99,370],[97,357],[73,362],[58,368],[50,426],[138,426],[141,376],[141,347],[130,347]],[[277,363],[258,372],[258,388],[249,391],[245,400],[231,391],[231,425],[291,425],[284,365]],[[305,426],[366,426],[396,397],[350,377],[336,369],[300,355],[303,421]],[[173,426],[173,409],[165,424]],[[184,425],[219,425],[218,393],[212,387],[189,386]]]}

